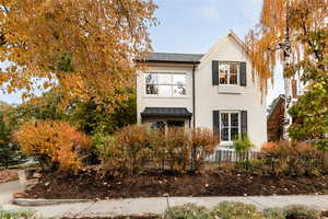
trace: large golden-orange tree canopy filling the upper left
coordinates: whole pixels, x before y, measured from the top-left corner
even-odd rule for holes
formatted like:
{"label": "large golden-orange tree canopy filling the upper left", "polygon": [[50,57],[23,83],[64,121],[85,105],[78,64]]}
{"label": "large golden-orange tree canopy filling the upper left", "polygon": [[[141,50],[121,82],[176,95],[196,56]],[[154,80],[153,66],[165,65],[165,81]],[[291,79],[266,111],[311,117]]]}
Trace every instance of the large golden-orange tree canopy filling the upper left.
{"label": "large golden-orange tree canopy filling the upper left", "polygon": [[61,90],[71,100],[127,101],[150,50],[152,0],[0,0],[0,87]]}

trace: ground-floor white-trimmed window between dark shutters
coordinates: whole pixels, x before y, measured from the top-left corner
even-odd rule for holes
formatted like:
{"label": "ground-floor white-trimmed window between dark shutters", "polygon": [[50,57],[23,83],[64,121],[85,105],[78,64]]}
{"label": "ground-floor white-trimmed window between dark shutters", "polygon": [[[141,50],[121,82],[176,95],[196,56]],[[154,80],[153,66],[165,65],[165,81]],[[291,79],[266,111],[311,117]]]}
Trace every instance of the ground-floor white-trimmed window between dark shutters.
{"label": "ground-floor white-trimmed window between dark shutters", "polygon": [[233,141],[241,132],[241,116],[237,112],[220,113],[220,130],[222,141]]}

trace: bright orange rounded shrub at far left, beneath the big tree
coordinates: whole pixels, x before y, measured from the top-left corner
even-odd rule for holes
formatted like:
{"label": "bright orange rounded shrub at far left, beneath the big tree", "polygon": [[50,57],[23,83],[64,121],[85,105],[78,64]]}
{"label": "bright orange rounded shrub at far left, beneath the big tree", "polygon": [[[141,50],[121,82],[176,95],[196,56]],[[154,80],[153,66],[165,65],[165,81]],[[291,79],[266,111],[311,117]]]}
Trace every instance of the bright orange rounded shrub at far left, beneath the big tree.
{"label": "bright orange rounded shrub at far left, beneath the big tree", "polygon": [[36,158],[44,169],[77,170],[81,152],[91,147],[91,139],[63,122],[38,120],[23,124],[15,132],[23,153]]}

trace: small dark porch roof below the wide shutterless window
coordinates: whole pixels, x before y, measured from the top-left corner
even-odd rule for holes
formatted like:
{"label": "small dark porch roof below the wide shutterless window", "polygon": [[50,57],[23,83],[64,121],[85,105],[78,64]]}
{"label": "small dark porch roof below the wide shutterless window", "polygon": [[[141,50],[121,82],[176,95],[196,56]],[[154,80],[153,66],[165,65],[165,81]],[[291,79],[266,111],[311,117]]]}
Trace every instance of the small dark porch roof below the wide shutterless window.
{"label": "small dark porch roof below the wide shutterless window", "polygon": [[183,107],[145,107],[141,113],[142,118],[191,118],[192,113]]}

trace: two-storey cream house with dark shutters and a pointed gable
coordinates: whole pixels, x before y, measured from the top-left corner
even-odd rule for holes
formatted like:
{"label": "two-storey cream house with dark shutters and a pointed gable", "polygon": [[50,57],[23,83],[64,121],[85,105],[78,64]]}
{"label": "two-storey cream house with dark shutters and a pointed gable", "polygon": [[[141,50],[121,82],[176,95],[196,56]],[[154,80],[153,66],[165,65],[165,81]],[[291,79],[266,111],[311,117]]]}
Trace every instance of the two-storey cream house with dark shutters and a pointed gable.
{"label": "two-storey cream house with dark shutters and a pointed gable", "polygon": [[267,141],[266,97],[232,31],[207,54],[152,53],[140,62],[147,70],[137,78],[138,123],[210,128],[225,147],[246,132],[257,148]]}

